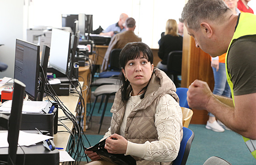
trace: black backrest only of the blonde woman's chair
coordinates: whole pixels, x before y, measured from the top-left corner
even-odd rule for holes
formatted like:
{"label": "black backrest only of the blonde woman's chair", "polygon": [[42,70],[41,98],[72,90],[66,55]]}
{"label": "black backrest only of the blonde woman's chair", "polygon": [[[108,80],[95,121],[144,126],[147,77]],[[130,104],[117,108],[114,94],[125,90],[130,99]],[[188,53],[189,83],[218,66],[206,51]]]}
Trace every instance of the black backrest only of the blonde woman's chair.
{"label": "black backrest only of the blonde woman's chair", "polygon": [[167,58],[167,71],[181,75],[182,51],[172,51]]}

